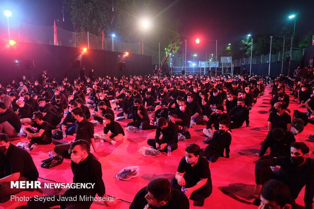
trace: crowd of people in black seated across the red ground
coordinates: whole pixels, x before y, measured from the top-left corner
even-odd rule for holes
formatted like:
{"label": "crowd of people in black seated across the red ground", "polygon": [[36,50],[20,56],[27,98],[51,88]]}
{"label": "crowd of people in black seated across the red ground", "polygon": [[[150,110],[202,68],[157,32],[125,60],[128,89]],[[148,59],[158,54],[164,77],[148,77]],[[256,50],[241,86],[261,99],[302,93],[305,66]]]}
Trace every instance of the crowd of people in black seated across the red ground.
{"label": "crowd of people in black seated across the red ground", "polygon": [[[84,71],[81,71],[82,75]],[[56,145],[54,151],[65,158],[72,159],[71,168],[75,177],[75,175],[81,176],[82,173],[78,173],[78,170],[74,171],[73,168],[81,169],[79,165],[85,159],[88,160],[86,163],[91,169],[99,172],[100,163],[90,153],[91,146],[94,152],[98,152],[94,139],[95,126],[103,127],[104,140],[111,145],[123,141],[126,127],[115,121],[116,117],[125,117],[128,121],[127,127],[142,130],[156,129],[155,138],[148,139],[147,144],[162,152],[167,152],[169,147],[171,151],[175,151],[180,140],[191,138],[189,130],[201,129],[199,125],[206,125],[206,128],[204,129],[203,126],[201,130],[205,134],[207,147],[202,149],[198,144],[187,146],[185,156],[181,159],[171,183],[164,179],[150,182],[146,189],[138,192],[130,208],[137,208],[135,205],[142,207],[146,204],[147,208],[150,208],[149,206],[177,208],[179,204],[173,201],[182,199],[182,193],[173,190],[181,189],[182,186],[186,189],[185,196],[194,200],[194,205],[203,206],[205,198],[212,193],[208,160],[216,162],[219,157],[232,158],[229,148],[232,143],[232,130],[244,126],[244,122],[247,127],[249,126],[250,112],[254,111],[254,105],[264,95],[266,85],[271,80],[270,77],[261,75],[213,77],[176,74],[134,75],[121,78],[114,76],[96,78],[95,74],[93,75],[93,77],[79,77],[73,82],[63,78],[59,85],[56,79],[51,79],[45,71],[41,79],[34,82],[22,76],[19,86],[16,80],[0,85],[0,145],[2,145],[0,152],[3,155],[10,153],[11,158],[7,157],[6,160],[14,161],[16,158],[11,152],[22,153],[24,157],[29,158],[29,153],[15,147],[8,138],[16,137],[21,133],[30,141],[29,148],[31,148],[35,144],[50,144],[53,130],[64,131],[66,135],[75,135],[75,139],[69,144]],[[256,163],[256,192],[261,191],[262,185],[267,180],[274,178],[272,171],[265,167],[282,165],[282,173],[287,173],[286,170],[301,172],[302,180],[299,180],[301,177],[293,174],[289,181],[279,180],[287,184],[292,199],[297,197],[303,186],[306,186],[305,205],[306,208],[311,208],[309,205],[312,203],[310,198],[313,198],[313,164],[308,158],[308,147],[305,144],[295,143],[294,135],[290,133],[292,119],[285,85],[289,85],[298,93],[298,102],[307,108],[308,116],[314,113],[314,90],[310,85],[299,83],[297,79],[291,77],[281,76],[273,79],[270,93],[272,99],[269,101],[271,108],[267,121],[268,135],[265,135],[261,151],[255,154],[261,157]],[[115,107],[115,112],[112,106]],[[270,147],[270,155],[264,156],[268,147]],[[0,158],[3,155],[0,155]],[[31,165],[27,170],[32,169],[32,174],[24,177],[37,179],[38,172],[33,168],[32,162],[23,163]],[[294,165],[297,168],[290,169],[289,166]],[[17,165],[12,164],[13,166]],[[9,169],[7,176],[1,173],[0,186],[21,179],[26,168],[17,167]],[[98,177],[86,178],[94,180]],[[100,185],[98,190],[85,192],[92,195],[96,193],[105,195],[104,183],[101,178],[97,181]],[[155,187],[163,188],[167,192],[156,193]],[[0,200],[6,201],[8,195],[17,192],[20,190],[0,192]],[[71,190],[64,195],[74,194],[76,192]],[[266,197],[265,195],[262,193],[263,198]],[[183,200],[180,208],[188,208],[188,201],[184,198]],[[54,203],[57,205],[60,202]],[[68,204],[73,203],[68,202]],[[87,207],[90,204],[91,202],[86,203]],[[289,202],[289,204],[293,203]],[[47,207],[36,202],[31,202],[29,205],[32,208]]]}

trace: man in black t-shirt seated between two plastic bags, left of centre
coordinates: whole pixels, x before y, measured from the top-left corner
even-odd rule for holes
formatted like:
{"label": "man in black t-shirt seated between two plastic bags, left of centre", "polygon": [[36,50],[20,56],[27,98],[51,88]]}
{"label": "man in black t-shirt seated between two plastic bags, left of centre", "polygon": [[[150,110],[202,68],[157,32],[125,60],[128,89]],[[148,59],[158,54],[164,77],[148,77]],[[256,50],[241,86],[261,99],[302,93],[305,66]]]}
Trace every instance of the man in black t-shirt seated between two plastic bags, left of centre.
{"label": "man in black t-shirt seated between two plastic bags, left of centre", "polygon": [[[106,142],[115,145],[116,141],[122,140],[124,137],[124,130],[121,124],[117,121],[114,121],[114,117],[111,114],[105,114],[103,119],[104,126],[104,140]],[[108,135],[108,132],[111,132],[111,135]]]}

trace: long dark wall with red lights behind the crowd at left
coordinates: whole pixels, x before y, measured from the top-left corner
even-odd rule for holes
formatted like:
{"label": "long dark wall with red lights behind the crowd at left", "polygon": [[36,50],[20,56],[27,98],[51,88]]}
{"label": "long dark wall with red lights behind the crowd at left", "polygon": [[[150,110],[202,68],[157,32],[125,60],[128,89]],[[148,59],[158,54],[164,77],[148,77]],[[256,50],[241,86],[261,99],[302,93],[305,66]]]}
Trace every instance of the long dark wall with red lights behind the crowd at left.
{"label": "long dark wall with red lights behind the crowd at left", "polygon": [[[95,69],[97,77],[144,75],[153,72],[151,57],[138,54],[129,54],[126,57],[120,52],[88,50],[82,55],[80,48],[32,43],[17,43],[12,47],[3,40],[0,41],[0,53],[0,82],[3,86],[12,79],[19,81],[22,75],[36,80],[44,70],[58,82],[63,77],[72,81],[80,72],[80,68],[75,67],[75,60],[81,60],[81,66],[86,67],[87,76],[90,68]],[[124,70],[121,69],[122,62],[125,62]]]}

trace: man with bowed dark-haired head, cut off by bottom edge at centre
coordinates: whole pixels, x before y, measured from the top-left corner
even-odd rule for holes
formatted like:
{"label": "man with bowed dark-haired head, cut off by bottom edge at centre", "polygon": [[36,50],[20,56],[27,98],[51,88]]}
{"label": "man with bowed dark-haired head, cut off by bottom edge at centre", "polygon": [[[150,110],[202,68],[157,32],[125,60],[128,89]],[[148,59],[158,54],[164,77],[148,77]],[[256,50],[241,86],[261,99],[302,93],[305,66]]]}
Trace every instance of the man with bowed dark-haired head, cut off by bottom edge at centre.
{"label": "man with bowed dark-haired head, cut off by bottom edge at centre", "polygon": [[166,178],[156,178],[137,192],[130,209],[138,208],[188,209],[189,201],[183,192],[172,188]]}

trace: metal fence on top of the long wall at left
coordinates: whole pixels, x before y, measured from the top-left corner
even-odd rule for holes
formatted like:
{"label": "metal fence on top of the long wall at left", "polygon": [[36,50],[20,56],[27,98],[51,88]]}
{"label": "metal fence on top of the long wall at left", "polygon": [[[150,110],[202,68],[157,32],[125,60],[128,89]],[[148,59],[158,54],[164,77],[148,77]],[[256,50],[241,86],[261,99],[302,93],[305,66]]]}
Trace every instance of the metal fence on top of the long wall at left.
{"label": "metal fence on top of the long wall at left", "polygon": [[[8,39],[7,28],[2,28],[1,39]],[[11,39],[16,41],[54,45],[53,26],[40,26],[28,23],[19,23],[17,27],[10,28]],[[57,27],[58,45],[67,47],[89,48],[102,50],[102,37],[88,32],[72,32]],[[106,34],[105,34],[106,36]],[[108,34],[107,34],[108,36]],[[104,38],[104,50],[112,51],[112,37]],[[129,52],[142,54],[142,45],[137,43],[125,43],[119,40],[119,36],[113,37],[114,52]],[[158,63],[158,51],[144,46],[144,55],[152,57],[154,63]]]}

